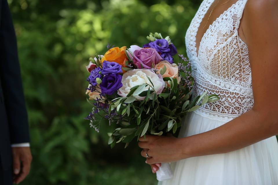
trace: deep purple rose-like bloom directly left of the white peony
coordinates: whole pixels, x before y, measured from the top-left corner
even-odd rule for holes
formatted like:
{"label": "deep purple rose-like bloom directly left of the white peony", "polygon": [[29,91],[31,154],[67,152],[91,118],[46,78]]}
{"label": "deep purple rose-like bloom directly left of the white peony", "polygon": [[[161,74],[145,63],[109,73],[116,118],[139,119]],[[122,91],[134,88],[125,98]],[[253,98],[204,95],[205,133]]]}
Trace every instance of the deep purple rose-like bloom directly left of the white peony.
{"label": "deep purple rose-like bloom directly left of the white peony", "polygon": [[119,88],[122,87],[122,75],[109,74],[103,77],[102,82],[99,84],[101,93],[112,95]]}

